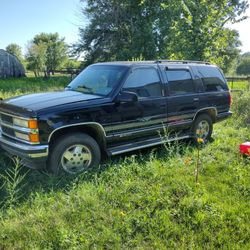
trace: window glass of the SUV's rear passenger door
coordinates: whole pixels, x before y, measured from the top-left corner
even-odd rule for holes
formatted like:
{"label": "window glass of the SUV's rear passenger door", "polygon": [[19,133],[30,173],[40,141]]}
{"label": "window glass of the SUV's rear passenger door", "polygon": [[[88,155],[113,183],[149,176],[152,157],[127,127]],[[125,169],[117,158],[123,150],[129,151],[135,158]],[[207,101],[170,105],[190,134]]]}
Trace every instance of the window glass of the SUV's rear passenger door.
{"label": "window glass of the SUV's rear passenger door", "polygon": [[166,70],[170,95],[194,93],[195,88],[188,70]]}

